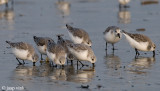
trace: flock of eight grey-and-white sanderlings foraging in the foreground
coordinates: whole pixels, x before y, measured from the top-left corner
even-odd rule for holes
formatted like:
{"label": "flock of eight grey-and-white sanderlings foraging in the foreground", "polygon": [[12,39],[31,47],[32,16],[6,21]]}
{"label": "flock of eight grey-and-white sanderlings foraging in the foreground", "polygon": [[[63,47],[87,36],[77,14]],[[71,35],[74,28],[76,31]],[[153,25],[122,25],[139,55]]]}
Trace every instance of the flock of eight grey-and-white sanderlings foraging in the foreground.
{"label": "flock of eight grey-and-white sanderlings foraging in the foreground", "polygon": [[[62,35],[57,35],[57,43],[49,37],[37,37],[33,36],[34,42],[37,45],[37,49],[41,54],[41,60],[43,60],[42,55],[47,55],[52,66],[65,65],[66,61],[77,60],[84,66],[82,61],[88,61],[92,63],[93,67],[96,62],[96,56],[91,48],[92,41],[88,33],[81,29],[72,27],[69,24],[66,24],[68,34],[71,40],[63,39]],[[126,37],[129,44],[135,49],[136,57],[140,54],[138,51],[153,51],[153,56],[155,56],[155,44],[145,35],[142,34],[131,34],[124,30],[121,30],[117,26],[109,26],[104,32],[104,39],[106,40],[106,49],[107,44],[112,44],[113,50],[114,44],[119,42],[122,38],[122,34]],[[25,42],[10,42],[6,41],[11,48],[12,52],[15,55],[19,64],[25,64],[24,60],[30,60],[33,62],[33,65],[38,61],[38,55],[35,52],[34,48]],[[23,60],[21,63],[20,60]]]}

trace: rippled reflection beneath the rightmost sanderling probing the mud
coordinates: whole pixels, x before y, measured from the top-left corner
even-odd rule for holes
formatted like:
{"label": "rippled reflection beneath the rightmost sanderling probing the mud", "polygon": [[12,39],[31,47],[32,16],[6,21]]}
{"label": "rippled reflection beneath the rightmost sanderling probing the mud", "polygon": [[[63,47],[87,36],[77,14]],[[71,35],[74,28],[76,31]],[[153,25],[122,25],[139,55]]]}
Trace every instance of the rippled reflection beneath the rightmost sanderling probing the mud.
{"label": "rippled reflection beneath the rightmost sanderling probing the mud", "polygon": [[136,74],[146,74],[147,69],[155,62],[155,57],[139,57],[133,59],[129,64],[128,70]]}

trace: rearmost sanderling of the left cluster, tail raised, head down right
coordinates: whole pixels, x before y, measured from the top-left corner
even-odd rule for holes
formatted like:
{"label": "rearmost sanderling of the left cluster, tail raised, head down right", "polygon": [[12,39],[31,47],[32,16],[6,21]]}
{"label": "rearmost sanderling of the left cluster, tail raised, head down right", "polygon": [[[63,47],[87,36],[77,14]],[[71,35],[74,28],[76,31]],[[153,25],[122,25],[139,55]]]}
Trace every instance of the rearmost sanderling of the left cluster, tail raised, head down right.
{"label": "rearmost sanderling of the left cluster, tail raised, head down right", "polygon": [[92,41],[90,40],[89,35],[85,30],[80,28],[74,28],[68,24],[66,24],[66,27],[68,29],[71,40],[75,44],[85,44],[88,46],[92,45]]}

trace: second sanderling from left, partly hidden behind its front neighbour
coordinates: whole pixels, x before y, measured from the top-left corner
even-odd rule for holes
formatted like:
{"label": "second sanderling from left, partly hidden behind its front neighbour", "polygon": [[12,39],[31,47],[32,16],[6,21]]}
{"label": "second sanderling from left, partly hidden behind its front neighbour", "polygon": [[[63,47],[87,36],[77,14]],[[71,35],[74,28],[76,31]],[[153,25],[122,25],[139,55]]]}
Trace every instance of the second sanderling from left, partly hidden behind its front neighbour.
{"label": "second sanderling from left, partly hidden behind its front neighbour", "polygon": [[43,60],[42,55],[47,55],[47,53],[46,53],[47,42],[48,42],[48,40],[52,40],[52,39],[48,38],[48,37],[36,37],[36,36],[33,36],[33,39],[37,45],[38,51],[41,54],[41,60]]}

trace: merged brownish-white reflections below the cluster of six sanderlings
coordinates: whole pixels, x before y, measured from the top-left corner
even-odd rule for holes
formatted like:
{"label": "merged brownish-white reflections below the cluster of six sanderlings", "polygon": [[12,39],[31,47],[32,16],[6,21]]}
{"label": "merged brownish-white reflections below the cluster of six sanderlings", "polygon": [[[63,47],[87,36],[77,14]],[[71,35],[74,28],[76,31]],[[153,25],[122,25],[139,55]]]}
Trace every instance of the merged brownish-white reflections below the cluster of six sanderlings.
{"label": "merged brownish-white reflections below the cluster of six sanderlings", "polygon": [[86,83],[94,77],[95,69],[81,69],[75,70],[74,66],[65,66],[64,68],[53,68],[49,64],[42,64],[40,66],[25,66],[19,65],[14,70],[16,80],[28,81],[34,80],[35,77],[44,77],[50,81],[69,81],[76,83]]}

